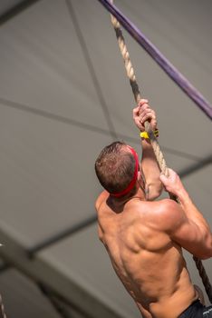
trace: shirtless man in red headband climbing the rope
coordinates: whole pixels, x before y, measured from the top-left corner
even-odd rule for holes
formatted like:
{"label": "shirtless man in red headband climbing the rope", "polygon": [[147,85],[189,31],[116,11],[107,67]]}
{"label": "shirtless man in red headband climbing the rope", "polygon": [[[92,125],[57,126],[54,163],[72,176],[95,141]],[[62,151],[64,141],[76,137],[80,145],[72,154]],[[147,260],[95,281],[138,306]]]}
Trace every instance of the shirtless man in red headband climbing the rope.
{"label": "shirtless man in red headband climbing the rope", "polygon": [[[140,131],[157,119],[147,100],[133,110]],[[95,163],[104,187],[96,201],[99,236],[112,266],[145,318],[212,317],[198,301],[181,247],[200,259],[212,256],[207,221],[192,203],[178,174],[160,175],[149,139],[141,138],[142,160],[127,144],[105,147]],[[178,196],[153,202],[163,186]]]}

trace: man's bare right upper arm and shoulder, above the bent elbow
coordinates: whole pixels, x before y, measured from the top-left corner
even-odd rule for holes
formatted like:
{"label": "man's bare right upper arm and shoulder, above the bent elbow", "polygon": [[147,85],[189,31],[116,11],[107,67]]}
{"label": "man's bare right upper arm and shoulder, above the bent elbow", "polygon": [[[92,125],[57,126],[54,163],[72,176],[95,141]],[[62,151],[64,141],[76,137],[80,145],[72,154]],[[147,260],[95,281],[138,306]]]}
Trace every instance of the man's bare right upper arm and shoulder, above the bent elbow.
{"label": "man's bare right upper arm and shoulder, above the bent elbow", "polygon": [[211,235],[198,226],[179,204],[172,200],[163,200],[161,204],[161,222],[164,231],[172,241],[178,243],[189,253],[200,259],[212,256]]}

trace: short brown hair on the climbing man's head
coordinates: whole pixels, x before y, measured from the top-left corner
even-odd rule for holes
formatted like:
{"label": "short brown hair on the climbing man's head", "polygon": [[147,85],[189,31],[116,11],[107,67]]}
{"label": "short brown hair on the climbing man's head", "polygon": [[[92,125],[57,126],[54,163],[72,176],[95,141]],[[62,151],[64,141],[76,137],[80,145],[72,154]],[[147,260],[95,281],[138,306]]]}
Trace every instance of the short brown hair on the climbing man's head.
{"label": "short brown hair on the climbing man's head", "polygon": [[127,144],[114,142],[101,151],[95,162],[95,172],[101,185],[111,194],[120,193],[130,184],[135,159],[126,151]]}

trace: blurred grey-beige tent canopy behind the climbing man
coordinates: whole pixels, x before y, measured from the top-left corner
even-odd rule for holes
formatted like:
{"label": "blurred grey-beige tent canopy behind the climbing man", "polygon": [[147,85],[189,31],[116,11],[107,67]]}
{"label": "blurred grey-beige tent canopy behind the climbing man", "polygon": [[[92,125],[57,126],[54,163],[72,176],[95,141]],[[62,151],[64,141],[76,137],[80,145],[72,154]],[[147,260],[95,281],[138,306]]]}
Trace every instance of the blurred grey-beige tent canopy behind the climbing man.
{"label": "blurred grey-beige tent canopy behind the climbing man", "polygon": [[[115,4],[212,101],[212,3]],[[97,0],[2,0],[0,15],[5,311],[22,318],[140,317],[111,269],[95,221],[97,155],[115,139],[140,153],[134,100],[110,15]],[[212,224],[211,122],[123,33],[141,93],[158,114],[166,160]],[[192,257],[185,257],[193,282],[202,287]],[[204,265],[212,278],[211,261]]]}

